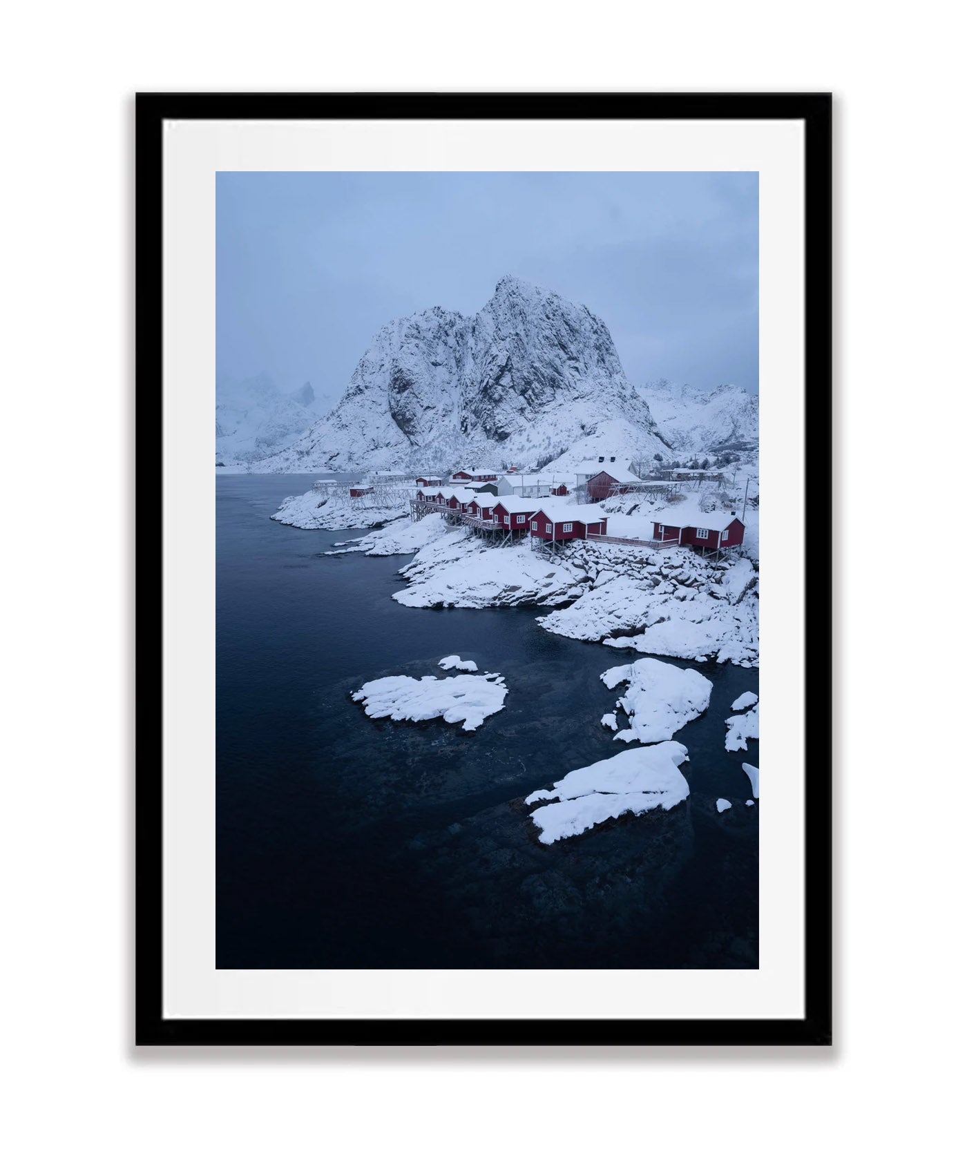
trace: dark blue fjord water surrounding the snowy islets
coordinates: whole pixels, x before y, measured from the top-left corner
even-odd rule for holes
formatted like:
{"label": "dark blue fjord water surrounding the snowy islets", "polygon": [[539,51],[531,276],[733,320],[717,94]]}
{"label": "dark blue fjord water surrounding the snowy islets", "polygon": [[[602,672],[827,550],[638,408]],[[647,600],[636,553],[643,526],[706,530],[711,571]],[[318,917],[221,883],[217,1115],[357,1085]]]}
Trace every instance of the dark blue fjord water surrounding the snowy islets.
{"label": "dark blue fjord water surrounding the snowy islets", "polygon": [[[727,753],[724,718],[758,670],[693,664],[714,690],[676,734],[687,802],[541,846],[521,798],[619,752],[599,675],[635,654],[534,609],[403,608],[407,557],[324,557],[361,532],[269,520],[312,479],[217,479],[217,965],[756,967],[758,745]],[[349,699],[452,652],[506,679],[476,733]]]}

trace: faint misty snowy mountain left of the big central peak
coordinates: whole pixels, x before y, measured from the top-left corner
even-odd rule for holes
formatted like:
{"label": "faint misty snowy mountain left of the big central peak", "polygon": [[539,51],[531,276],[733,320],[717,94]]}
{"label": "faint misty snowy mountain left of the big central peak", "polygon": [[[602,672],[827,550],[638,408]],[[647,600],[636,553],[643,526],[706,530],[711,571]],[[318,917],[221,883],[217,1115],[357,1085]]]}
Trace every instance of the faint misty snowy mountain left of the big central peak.
{"label": "faint misty snowy mountain left of the big central peak", "polygon": [[216,463],[253,464],[291,443],[318,418],[310,383],[282,394],[267,375],[240,383],[219,379],[215,386]]}

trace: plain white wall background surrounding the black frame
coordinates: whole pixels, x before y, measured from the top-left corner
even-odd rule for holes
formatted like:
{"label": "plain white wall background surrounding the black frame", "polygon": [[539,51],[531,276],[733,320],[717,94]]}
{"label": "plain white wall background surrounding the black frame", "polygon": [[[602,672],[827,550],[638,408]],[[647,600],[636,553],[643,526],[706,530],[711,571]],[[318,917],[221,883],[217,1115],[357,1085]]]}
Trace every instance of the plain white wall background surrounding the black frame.
{"label": "plain white wall background surrounding the black frame", "polygon": [[[902,19],[856,0],[92,0],[8,13],[0,1138],[12,1155],[952,1153],[965,812],[964,583],[945,542],[962,506],[965,418],[953,12],[937,0]],[[131,94],[326,88],[836,94],[834,1050],[132,1051]],[[887,457],[909,471],[919,456],[922,484],[888,486]],[[914,525],[934,542],[905,546]]]}

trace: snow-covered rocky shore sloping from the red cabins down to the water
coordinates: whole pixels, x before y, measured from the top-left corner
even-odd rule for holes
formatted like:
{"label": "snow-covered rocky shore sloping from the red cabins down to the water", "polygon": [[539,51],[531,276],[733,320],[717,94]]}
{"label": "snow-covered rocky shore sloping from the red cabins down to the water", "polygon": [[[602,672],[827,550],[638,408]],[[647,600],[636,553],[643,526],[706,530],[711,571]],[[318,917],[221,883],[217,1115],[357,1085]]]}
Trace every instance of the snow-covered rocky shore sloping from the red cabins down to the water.
{"label": "snow-covered rocky shore sloping from the red cabins down to the water", "polygon": [[407,608],[534,607],[544,610],[536,617],[544,631],[575,640],[758,667],[759,577],[745,557],[712,560],[688,548],[586,539],[554,556],[529,539],[491,548],[438,513],[416,523],[397,517],[326,554],[347,552],[412,556],[399,570],[406,587],[392,593]]}

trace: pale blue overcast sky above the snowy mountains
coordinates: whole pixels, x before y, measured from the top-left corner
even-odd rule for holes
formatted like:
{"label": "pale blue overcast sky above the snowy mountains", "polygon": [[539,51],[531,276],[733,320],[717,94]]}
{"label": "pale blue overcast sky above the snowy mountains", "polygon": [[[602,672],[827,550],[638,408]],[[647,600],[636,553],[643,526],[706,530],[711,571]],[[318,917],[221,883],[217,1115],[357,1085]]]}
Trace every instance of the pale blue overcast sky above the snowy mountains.
{"label": "pale blue overcast sky above the snowy mountains", "polygon": [[633,383],[758,390],[755,173],[219,173],[218,375],[334,403],[373,335],[504,274],[583,303]]}

